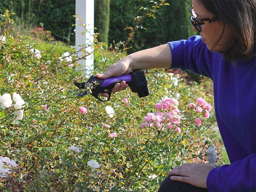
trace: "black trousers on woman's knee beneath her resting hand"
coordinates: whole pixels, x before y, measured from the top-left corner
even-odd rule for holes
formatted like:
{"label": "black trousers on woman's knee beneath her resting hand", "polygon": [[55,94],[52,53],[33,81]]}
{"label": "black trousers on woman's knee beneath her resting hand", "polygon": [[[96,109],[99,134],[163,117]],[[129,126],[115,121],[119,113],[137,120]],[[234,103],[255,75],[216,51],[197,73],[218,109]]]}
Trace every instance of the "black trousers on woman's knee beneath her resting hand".
{"label": "black trousers on woman's knee beneath her resting hand", "polygon": [[199,188],[180,181],[170,179],[171,175],[162,181],[158,192],[208,192],[207,189]]}

